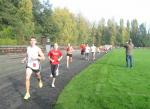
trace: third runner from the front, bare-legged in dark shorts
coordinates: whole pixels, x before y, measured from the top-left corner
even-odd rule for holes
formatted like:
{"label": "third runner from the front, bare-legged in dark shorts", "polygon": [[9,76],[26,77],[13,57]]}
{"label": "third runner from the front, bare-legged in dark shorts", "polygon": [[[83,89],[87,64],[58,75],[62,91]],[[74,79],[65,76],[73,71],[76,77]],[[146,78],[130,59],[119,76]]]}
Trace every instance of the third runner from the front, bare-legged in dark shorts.
{"label": "third runner from the front, bare-legged in dark shorts", "polygon": [[67,68],[69,68],[69,64],[72,62],[72,52],[73,52],[73,48],[70,45],[70,43],[68,44],[66,52],[67,52]]}

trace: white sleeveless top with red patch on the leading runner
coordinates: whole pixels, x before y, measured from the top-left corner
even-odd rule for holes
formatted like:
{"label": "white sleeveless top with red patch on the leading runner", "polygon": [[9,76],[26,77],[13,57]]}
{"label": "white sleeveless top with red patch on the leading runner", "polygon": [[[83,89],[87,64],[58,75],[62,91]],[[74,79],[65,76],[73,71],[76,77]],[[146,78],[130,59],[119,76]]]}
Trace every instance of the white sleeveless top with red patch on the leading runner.
{"label": "white sleeveless top with red patch on the leading runner", "polygon": [[27,66],[34,69],[38,70],[40,68],[40,62],[37,59],[39,55],[39,47],[34,46],[34,47],[27,47]]}

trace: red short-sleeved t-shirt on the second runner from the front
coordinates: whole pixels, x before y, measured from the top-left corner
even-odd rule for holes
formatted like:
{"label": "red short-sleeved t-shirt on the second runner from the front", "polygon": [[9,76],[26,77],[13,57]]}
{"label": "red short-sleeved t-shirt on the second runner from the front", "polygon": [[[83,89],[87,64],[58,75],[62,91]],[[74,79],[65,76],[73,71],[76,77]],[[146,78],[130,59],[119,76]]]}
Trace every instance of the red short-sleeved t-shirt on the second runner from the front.
{"label": "red short-sleeved t-shirt on the second runner from the front", "polygon": [[58,61],[58,58],[62,56],[62,53],[60,50],[51,50],[49,53],[48,53],[48,56],[54,60],[54,62],[50,62],[51,64],[59,64],[59,61]]}

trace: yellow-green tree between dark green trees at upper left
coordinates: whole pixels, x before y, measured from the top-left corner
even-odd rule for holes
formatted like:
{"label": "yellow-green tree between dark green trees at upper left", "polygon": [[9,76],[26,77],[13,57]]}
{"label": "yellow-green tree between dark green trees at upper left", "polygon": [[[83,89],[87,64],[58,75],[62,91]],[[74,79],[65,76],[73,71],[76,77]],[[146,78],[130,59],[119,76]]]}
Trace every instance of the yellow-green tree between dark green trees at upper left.
{"label": "yellow-green tree between dark green trees at upper left", "polygon": [[[18,6],[18,15],[22,22],[20,22],[20,30],[18,30],[19,40],[21,43],[25,39],[28,39],[34,34],[34,22],[32,14],[32,1],[31,0],[21,0]],[[25,38],[25,39],[24,39]],[[19,42],[20,42],[19,41]]]}

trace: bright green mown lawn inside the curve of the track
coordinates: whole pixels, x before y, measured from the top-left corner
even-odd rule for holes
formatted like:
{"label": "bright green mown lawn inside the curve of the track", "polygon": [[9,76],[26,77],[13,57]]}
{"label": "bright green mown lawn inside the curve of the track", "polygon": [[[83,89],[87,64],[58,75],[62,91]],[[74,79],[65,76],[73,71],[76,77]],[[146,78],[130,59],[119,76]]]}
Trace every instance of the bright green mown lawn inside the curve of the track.
{"label": "bright green mown lawn inside the curve of the track", "polygon": [[150,49],[134,50],[132,69],[124,53],[113,50],[74,77],[55,109],[150,109]]}

